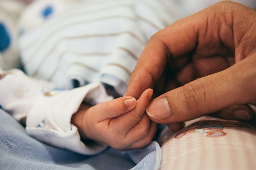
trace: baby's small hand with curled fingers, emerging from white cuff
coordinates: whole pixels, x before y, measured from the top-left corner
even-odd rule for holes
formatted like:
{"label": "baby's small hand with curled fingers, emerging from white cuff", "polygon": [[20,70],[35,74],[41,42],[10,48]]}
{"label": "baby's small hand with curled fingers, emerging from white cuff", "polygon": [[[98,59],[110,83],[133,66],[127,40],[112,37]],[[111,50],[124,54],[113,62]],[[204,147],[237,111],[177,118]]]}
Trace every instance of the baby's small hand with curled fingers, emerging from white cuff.
{"label": "baby's small hand with curled fingers, emerging from white cuff", "polygon": [[145,90],[136,101],[133,97],[102,102],[89,107],[81,105],[71,123],[82,139],[103,142],[117,150],[138,149],[148,145],[157,125],[145,113],[153,90]]}

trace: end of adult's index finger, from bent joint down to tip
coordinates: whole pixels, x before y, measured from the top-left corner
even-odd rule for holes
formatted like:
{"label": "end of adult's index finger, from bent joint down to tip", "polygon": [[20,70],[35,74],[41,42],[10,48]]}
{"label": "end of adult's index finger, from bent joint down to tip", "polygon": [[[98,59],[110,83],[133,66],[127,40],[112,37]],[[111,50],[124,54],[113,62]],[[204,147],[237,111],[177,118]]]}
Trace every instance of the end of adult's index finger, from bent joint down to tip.
{"label": "end of adult's index finger, from bent joint down to tip", "polygon": [[169,54],[160,41],[149,41],[131,74],[125,96],[138,99],[145,89],[153,88],[167,64],[166,55]]}

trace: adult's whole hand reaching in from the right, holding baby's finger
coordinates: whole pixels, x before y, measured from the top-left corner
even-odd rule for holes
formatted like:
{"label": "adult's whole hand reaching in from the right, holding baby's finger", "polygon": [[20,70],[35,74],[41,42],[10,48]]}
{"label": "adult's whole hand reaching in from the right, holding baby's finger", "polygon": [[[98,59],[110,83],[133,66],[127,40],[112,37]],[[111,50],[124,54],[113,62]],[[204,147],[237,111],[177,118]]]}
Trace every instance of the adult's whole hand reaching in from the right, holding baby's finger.
{"label": "adult's whole hand reaching in from the right, holding baby's finger", "polygon": [[256,11],[232,1],[185,17],[151,37],[125,95],[154,88],[148,116],[176,130],[212,113],[256,122],[255,30]]}

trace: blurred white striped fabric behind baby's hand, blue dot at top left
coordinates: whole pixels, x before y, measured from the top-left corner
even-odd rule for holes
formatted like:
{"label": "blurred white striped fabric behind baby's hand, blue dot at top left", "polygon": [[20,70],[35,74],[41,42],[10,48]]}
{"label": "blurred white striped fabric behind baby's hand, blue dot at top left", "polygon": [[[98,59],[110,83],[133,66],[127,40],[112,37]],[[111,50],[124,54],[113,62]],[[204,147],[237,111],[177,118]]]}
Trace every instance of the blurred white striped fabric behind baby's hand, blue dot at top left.
{"label": "blurred white striped fabric behind baby's hand, blue dot at top left", "polygon": [[27,74],[61,88],[101,82],[123,95],[149,38],[179,18],[169,0],[67,1],[38,0],[20,20]]}

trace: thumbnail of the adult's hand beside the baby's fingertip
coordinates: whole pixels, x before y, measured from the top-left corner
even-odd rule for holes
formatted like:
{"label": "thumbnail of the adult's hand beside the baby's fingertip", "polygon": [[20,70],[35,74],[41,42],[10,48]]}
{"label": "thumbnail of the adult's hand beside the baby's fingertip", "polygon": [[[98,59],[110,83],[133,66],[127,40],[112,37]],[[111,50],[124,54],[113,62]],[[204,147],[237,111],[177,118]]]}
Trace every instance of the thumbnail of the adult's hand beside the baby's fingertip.
{"label": "thumbnail of the adult's hand beside the baby's fingertip", "polygon": [[166,119],[172,116],[167,98],[153,100],[146,109],[149,116],[155,119]]}

